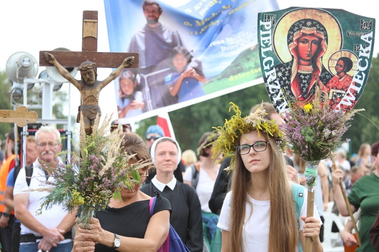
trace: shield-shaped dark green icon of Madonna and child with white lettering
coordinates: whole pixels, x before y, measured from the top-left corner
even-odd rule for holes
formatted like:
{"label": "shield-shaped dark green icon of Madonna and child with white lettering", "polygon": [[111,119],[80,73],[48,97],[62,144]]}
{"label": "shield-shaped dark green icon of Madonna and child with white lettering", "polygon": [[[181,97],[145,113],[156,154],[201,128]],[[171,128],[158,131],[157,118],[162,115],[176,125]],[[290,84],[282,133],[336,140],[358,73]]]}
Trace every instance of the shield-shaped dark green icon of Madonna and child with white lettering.
{"label": "shield-shaped dark green icon of Madonna and child with white lettering", "polygon": [[262,75],[277,112],[285,114],[288,99],[312,101],[317,86],[331,109],[356,104],[370,70],[375,19],[292,7],[259,13],[258,36]]}

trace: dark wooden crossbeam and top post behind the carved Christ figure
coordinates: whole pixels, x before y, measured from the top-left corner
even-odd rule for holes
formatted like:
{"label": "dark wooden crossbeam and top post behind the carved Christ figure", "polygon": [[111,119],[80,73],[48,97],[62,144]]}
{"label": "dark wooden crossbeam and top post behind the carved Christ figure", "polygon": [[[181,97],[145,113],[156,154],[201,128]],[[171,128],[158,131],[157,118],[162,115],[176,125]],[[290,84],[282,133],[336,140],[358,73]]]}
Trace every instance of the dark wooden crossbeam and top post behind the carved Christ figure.
{"label": "dark wooden crossbeam and top post behind the carved Christ figure", "polygon": [[39,66],[51,67],[46,61],[45,52],[53,54],[65,68],[78,67],[84,61],[96,62],[97,68],[117,68],[128,56],[134,56],[134,62],[128,68],[138,68],[138,53],[98,52],[98,12],[83,11],[82,51],[39,51]]}

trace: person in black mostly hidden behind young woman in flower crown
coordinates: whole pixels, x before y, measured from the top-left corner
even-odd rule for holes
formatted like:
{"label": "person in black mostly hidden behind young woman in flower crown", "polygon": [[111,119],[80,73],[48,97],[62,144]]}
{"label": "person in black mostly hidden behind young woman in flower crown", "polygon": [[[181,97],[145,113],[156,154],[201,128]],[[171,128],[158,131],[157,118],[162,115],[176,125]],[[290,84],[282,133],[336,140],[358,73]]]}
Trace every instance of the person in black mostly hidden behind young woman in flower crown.
{"label": "person in black mostly hidden behind young woman in flower crown", "polygon": [[[266,115],[264,117],[268,120],[276,119],[278,125],[281,125],[283,120],[279,116],[279,114],[276,112],[274,106],[270,102],[262,102],[260,104],[257,104],[253,106],[250,109],[250,113],[253,113],[257,110],[257,108],[265,109]],[[285,156],[286,158],[286,167],[287,167],[287,173],[290,180],[299,183],[299,178],[297,176],[297,171],[294,168],[294,163],[291,158],[288,157],[288,155]],[[211,199],[209,200],[209,208],[211,209],[212,213],[214,214],[220,214],[222,204],[224,202],[226,193],[228,192],[228,183],[230,180],[230,174],[228,171],[225,170],[225,168],[229,167],[230,165],[230,158],[225,158],[220,166],[220,171],[217,175],[217,179],[215,182],[215,185],[213,187],[213,192]]]}

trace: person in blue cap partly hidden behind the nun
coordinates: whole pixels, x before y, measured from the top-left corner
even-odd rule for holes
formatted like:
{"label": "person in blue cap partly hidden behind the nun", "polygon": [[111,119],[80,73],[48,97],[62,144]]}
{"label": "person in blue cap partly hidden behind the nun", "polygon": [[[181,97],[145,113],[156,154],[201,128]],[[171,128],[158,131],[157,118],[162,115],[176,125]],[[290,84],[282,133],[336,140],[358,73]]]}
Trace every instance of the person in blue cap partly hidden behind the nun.
{"label": "person in blue cap partly hidden behind the nun", "polygon": [[[148,130],[145,133],[145,143],[150,149],[151,146],[157,139],[160,139],[161,137],[164,137],[163,129],[159,125],[150,125]],[[177,166],[177,169],[174,171],[174,176],[179,182],[183,182],[183,175],[182,172],[185,171],[185,166],[183,162],[180,161],[180,163]],[[149,177],[146,180],[146,183],[150,183],[153,177],[155,176],[155,170],[151,170],[149,172]]]}

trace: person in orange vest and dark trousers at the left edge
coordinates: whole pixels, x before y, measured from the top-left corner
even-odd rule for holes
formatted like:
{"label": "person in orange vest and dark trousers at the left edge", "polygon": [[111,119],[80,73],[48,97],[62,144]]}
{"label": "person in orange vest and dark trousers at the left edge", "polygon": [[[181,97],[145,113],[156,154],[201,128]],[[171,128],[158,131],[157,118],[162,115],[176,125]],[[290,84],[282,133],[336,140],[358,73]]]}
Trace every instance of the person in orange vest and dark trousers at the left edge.
{"label": "person in orange vest and dark trousers at the left edge", "polygon": [[7,140],[5,144],[5,162],[0,169],[0,232],[2,237],[3,250],[11,251],[12,248],[12,232],[15,220],[14,211],[4,204],[4,194],[6,190],[7,177],[16,165],[16,155],[14,153],[15,134],[12,128],[6,134]]}

